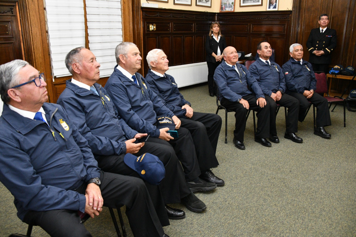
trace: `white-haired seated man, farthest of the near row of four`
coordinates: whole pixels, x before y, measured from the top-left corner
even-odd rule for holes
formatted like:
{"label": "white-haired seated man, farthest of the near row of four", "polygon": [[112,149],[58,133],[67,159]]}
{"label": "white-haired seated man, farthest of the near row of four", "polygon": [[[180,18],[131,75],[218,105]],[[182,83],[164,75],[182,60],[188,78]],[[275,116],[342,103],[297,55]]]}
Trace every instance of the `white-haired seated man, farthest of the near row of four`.
{"label": "white-haired seated man, farthest of the near row of four", "polygon": [[216,114],[195,111],[193,113],[189,101],[184,100],[183,95],[179,93],[174,78],[165,74],[168,70],[168,59],[162,49],[152,49],[147,53],[146,59],[150,69],[145,79],[151,90],[180,119],[180,127],[187,128],[193,137],[201,170],[200,178],[216,183],[217,186],[223,186],[224,180],[216,177],[210,170],[211,167],[219,165],[215,153],[221,129],[221,117]]}

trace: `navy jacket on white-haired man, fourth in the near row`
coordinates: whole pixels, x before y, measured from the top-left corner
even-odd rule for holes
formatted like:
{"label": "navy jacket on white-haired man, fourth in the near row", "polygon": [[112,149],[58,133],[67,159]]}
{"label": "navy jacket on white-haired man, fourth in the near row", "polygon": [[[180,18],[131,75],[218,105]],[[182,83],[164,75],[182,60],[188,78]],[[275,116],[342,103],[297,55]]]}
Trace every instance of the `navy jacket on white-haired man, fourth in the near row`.
{"label": "navy jacket on white-haired man, fourth in the near row", "polygon": [[184,100],[183,95],[179,93],[178,85],[171,75],[164,73],[166,77],[159,77],[148,69],[146,81],[153,92],[162,99],[164,104],[170,109],[174,115],[180,118],[185,118],[187,110],[182,109],[183,105],[189,105],[189,101]]}

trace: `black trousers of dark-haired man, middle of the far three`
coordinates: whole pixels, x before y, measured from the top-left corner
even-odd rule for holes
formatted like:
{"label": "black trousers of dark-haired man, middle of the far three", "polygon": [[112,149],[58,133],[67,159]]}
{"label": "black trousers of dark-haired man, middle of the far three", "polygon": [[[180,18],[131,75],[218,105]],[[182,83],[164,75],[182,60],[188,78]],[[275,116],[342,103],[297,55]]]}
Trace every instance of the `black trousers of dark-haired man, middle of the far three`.
{"label": "black trousers of dark-haired man, middle of the far three", "polygon": [[287,94],[283,94],[282,98],[276,102],[268,95],[265,95],[265,99],[267,103],[269,103],[269,134],[277,135],[277,104],[288,108],[286,118],[286,132],[298,132],[299,101],[293,96]]}

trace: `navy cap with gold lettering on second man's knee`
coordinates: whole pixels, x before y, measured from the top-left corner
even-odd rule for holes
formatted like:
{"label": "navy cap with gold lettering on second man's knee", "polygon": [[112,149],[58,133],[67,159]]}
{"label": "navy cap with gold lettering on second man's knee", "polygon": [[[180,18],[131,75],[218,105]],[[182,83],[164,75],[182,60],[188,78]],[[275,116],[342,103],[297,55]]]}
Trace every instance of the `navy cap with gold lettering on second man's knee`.
{"label": "navy cap with gold lettering on second man's knee", "polygon": [[150,153],[144,153],[139,157],[127,153],[124,162],[135,170],[142,179],[153,185],[161,183],[164,175],[166,175],[162,161]]}

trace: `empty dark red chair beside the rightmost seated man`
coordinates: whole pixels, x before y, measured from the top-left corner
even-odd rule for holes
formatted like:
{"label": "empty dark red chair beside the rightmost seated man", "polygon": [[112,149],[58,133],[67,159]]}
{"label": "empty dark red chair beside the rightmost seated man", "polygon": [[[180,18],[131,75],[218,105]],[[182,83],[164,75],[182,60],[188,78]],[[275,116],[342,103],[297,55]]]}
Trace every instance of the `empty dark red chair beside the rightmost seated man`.
{"label": "empty dark red chair beside the rightmost seated man", "polygon": [[[342,102],[342,104],[344,105],[344,127],[346,127],[346,117],[345,117],[345,99],[340,97],[340,96],[334,96],[331,97],[328,93],[328,83],[326,80],[326,75],[325,73],[315,73],[315,79],[316,79],[316,90],[314,91],[315,93],[318,93],[322,96],[324,96],[324,94],[326,94],[327,96],[324,96],[327,100],[329,105],[329,109],[332,105],[332,103],[339,103]],[[314,112],[314,127],[315,125],[315,106],[313,105],[313,112]],[[332,110],[333,112],[333,110]]]}

